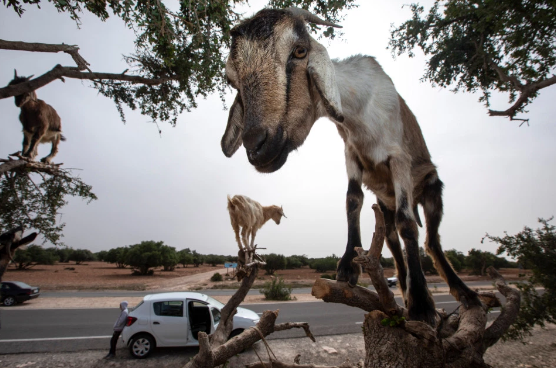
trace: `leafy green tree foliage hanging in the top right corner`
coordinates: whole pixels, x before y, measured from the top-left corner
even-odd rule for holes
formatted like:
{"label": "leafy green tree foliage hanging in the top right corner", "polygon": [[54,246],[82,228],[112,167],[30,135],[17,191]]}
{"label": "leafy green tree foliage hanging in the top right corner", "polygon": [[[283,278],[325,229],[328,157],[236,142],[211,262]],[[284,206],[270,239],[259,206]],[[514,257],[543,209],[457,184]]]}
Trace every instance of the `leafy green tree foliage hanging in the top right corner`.
{"label": "leafy green tree foliage hanging in the top right corner", "polygon": [[515,118],[556,83],[553,0],[437,0],[428,13],[419,4],[410,9],[412,18],[392,30],[392,53],[412,57],[420,48],[428,57],[423,80],[480,90],[487,107],[492,91],[508,93],[513,105],[491,116]]}

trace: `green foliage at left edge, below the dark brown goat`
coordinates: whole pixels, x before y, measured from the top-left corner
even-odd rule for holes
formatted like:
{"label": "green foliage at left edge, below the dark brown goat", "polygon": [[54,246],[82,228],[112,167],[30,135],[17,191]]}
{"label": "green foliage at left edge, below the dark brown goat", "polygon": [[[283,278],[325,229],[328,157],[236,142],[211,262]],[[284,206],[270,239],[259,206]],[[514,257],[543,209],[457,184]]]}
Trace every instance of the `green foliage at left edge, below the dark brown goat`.
{"label": "green foliage at left edge, below the dark brown goat", "polygon": [[0,233],[23,225],[39,231],[44,242],[63,245],[60,239],[65,223],[58,216],[68,196],[87,203],[97,199],[92,187],[71,170],[5,172],[0,176]]}

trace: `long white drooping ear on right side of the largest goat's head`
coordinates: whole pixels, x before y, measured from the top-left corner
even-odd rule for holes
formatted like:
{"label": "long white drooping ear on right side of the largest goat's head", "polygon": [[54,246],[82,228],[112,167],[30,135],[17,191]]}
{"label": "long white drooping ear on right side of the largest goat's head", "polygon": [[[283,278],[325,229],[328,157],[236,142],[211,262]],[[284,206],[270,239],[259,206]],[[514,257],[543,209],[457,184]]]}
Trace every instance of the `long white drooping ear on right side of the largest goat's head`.
{"label": "long white drooping ear on right side of the largest goat's head", "polygon": [[340,91],[336,84],[334,66],[326,48],[315,40],[311,40],[311,52],[309,53],[309,63],[307,71],[311,80],[319,91],[326,112],[336,121],[343,122],[342,102]]}

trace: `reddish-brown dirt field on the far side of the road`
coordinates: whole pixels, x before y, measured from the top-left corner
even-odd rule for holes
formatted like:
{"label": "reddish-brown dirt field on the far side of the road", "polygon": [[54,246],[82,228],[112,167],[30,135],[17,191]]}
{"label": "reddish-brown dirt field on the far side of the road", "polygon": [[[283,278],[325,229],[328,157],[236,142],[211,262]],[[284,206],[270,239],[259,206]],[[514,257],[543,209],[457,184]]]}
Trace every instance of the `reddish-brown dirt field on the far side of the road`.
{"label": "reddish-brown dirt field on the far side of the road", "polygon": [[[163,271],[156,269],[153,276],[134,276],[130,268],[117,268],[113,264],[104,262],[88,262],[87,264],[75,265],[73,263],[60,263],[53,266],[36,266],[30,270],[16,270],[8,268],[4,280],[23,281],[32,286],[38,286],[41,290],[195,290],[207,288],[233,288],[238,285],[234,281],[210,282],[198,280],[194,282],[188,279],[187,285],[180,281],[184,276],[201,273],[219,272],[226,276],[223,265],[216,267],[203,265],[200,267],[177,267],[174,271]],[[231,273],[232,270],[230,269]],[[519,279],[517,269],[502,269],[501,273],[506,280]],[[395,270],[385,269],[386,277],[391,277]],[[321,273],[315,272],[308,267],[295,270],[280,270],[276,272],[278,277],[283,278],[286,283],[293,287],[310,287]],[[328,274],[334,274],[333,271]],[[460,277],[464,281],[488,280],[487,277],[470,276],[461,272]],[[260,273],[255,287],[261,286],[270,280],[270,275]],[[441,282],[440,276],[427,276],[428,282]],[[371,283],[367,274],[362,274],[360,283],[367,286]]]}

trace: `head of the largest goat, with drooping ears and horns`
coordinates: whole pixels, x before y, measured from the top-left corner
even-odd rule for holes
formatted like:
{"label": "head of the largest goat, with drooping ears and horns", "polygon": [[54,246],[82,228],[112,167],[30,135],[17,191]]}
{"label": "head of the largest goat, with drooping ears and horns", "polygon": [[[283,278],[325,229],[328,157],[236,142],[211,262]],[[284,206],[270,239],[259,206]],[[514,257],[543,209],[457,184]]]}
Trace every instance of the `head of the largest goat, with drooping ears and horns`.
{"label": "head of the largest goat, with drooping ears and horns", "polygon": [[282,167],[303,144],[318,118],[317,106],[343,121],[334,67],[306,23],[339,27],[306,10],[264,9],[234,27],[226,63],[238,90],[230,108],[222,151],[232,156],[243,145],[260,172]]}

